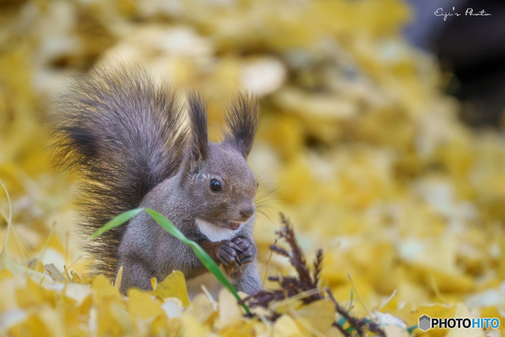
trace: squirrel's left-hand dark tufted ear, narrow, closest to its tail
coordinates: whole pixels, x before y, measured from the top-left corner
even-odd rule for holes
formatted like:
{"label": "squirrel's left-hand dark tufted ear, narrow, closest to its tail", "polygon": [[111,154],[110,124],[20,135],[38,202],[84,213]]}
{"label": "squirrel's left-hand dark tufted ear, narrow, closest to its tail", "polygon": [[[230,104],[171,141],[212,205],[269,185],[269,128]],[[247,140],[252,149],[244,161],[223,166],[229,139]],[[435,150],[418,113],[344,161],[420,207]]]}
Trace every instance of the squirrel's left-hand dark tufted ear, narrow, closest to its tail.
{"label": "squirrel's left-hand dark tufted ear, narrow, closest to its tail", "polygon": [[[201,95],[195,91],[187,92],[189,126],[189,161],[191,167],[198,167],[200,161],[207,160],[209,155],[209,138],[207,135],[207,111]],[[194,166],[195,165],[195,166]]]}

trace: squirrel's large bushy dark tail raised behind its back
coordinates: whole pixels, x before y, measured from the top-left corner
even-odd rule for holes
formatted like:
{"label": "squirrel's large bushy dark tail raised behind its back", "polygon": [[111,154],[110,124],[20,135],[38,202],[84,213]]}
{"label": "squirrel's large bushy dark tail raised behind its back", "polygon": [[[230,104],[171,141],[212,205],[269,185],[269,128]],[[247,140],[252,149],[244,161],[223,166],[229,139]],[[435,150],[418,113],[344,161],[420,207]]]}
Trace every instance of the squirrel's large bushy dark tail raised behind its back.
{"label": "squirrel's large bushy dark tail raised behind its back", "polygon": [[[77,79],[52,116],[59,165],[80,176],[82,234],[87,238],[173,175],[186,129],[174,93],[138,68],[95,69]],[[86,240],[93,271],[116,275],[124,226]]]}

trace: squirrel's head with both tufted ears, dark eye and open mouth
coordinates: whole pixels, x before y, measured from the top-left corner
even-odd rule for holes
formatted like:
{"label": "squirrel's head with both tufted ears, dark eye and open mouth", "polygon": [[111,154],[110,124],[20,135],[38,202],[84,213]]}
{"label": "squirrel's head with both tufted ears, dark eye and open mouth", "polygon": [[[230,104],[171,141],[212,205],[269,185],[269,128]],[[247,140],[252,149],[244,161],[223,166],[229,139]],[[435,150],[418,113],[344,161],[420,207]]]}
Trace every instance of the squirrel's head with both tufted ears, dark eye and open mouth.
{"label": "squirrel's head with both tufted ears, dark eye and open mouth", "polygon": [[256,211],[256,176],[246,159],[259,126],[258,99],[239,94],[226,113],[221,142],[207,135],[206,107],[198,94],[188,94],[190,136],[185,151],[181,183],[198,219],[233,230]]}

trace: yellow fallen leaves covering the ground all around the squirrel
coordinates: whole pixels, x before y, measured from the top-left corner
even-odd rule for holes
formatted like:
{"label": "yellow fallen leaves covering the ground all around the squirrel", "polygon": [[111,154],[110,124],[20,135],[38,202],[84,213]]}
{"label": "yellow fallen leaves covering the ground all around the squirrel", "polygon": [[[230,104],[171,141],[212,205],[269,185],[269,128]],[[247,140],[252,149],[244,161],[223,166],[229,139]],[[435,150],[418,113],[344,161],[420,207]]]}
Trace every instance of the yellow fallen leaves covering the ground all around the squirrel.
{"label": "yellow fallen leaves covering the ground all around the squirrel", "polygon": [[[177,272],[127,297],[120,275],[86,276],[75,181],[51,169],[44,121],[69,75],[133,62],[181,100],[185,88],[205,92],[212,139],[233,93],[260,95],[248,163],[265,196],[262,276],[293,273],[282,257],[268,263],[282,211],[309,261],[324,250],[321,288],[342,305],[358,291],[351,313],[389,336],[423,314],[500,326],[414,334],[505,335],[505,139],[459,121],[434,58],[400,35],[409,16],[399,0],[0,2],[0,179],[12,200],[0,335],[340,334],[328,300],[280,303],[270,322],[244,318],[227,291],[190,303]],[[0,210],[9,218],[6,197]]]}

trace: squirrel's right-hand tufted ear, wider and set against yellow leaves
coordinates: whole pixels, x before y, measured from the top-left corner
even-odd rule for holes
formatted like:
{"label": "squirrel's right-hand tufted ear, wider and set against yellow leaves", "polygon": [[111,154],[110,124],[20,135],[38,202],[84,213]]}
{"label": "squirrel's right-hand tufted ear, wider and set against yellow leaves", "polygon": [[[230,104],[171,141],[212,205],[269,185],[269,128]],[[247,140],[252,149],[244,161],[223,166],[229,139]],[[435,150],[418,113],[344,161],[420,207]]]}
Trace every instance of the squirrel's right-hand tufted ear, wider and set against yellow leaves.
{"label": "squirrel's right-hand tufted ear, wider and set against yellow leaves", "polygon": [[223,141],[237,149],[247,159],[260,125],[258,97],[239,93],[228,106]]}

